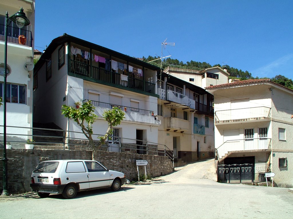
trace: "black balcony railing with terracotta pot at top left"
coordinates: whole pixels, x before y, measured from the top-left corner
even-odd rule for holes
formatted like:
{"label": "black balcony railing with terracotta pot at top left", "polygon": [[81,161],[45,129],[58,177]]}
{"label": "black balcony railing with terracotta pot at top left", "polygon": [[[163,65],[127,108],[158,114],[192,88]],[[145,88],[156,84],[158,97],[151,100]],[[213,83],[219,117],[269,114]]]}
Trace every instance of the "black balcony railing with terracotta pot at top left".
{"label": "black balcony railing with terracotta pot at top left", "polygon": [[[0,24],[0,40],[5,41],[5,25]],[[10,43],[20,44],[18,37],[20,35],[25,36],[26,42],[22,45],[25,46],[33,46],[33,35],[32,32],[29,30],[19,29],[18,27],[8,27],[7,31],[7,41]]]}

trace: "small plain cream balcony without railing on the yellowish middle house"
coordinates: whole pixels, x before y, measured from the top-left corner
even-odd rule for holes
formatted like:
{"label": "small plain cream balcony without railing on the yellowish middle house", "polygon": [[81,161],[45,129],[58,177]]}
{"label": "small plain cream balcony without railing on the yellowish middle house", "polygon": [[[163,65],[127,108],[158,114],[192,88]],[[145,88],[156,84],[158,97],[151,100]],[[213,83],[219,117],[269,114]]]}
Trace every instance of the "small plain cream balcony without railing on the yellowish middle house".
{"label": "small plain cream balcony without railing on the yellowish middle house", "polygon": [[184,132],[190,129],[190,122],[188,120],[178,119],[175,117],[164,118],[164,124],[167,131]]}

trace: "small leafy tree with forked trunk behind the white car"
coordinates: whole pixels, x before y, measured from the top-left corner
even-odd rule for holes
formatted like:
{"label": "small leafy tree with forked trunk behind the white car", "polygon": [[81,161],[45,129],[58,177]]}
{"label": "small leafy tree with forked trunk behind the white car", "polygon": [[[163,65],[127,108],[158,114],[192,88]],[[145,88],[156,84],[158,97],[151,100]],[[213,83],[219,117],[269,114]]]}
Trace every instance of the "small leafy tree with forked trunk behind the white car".
{"label": "small leafy tree with forked trunk behind the white car", "polygon": [[124,112],[117,107],[105,110],[103,113],[103,118],[108,122],[108,130],[104,136],[99,137],[100,141],[95,145],[92,138],[92,124],[96,121],[98,116],[94,114],[94,111],[95,107],[91,101],[82,103],[79,108],[67,105],[62,105],[61,108],[61,112],[65,117],[73,119],[81,127],[82,133],[84,133],[93,149],[93,160],[95,159],[94,156],[96,154],[96,150],[100,149],[100,146],[108,139],[109,135],[112,134],[113,126],[119,125],[125,118]]}

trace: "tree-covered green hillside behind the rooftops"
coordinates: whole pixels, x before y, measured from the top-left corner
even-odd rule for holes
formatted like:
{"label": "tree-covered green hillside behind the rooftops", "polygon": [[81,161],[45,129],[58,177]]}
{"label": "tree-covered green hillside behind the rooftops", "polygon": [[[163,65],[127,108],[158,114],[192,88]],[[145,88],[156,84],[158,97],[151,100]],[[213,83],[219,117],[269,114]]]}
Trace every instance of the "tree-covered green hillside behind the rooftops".
{"label": "tree-covered green hillside behind the rooftops", "polygon": [[[156,61],[150,62],[150,64],[161,67],[160,57],[149,55],[148,58],[145,58],[145,57],[142,57],[142,58],[145,62],[149,62],[149,61],[158,59]],[[164,69],[165,67],[168,67],[168,66],[174,67],[174,68],[184,68],[184,69],[193,69],[193,70],[203,70],[206,68],[211,68],[211,67],[216,67],[216,66],[221,67],[220,64],[210,65],[207,62],[196,62],[193,60],[191,60],[190,62],[183,63],[182,61],[179,61],[178,59],[166,58],[162,61],[162,69]],[[229,65],[225,65],[225,67],[227,69],[227,72],[229,72],[229,74],[230,74],[229,78],[240,79],[240,80],[268,79],[268,78],[252,77],[250,72],[243,71],[241,69],[237,69],[234,67],[230,67]],[[275,77],[271,78],[271,80],[275,83],[281,84],[281,85],[293,90],[292,79],[288,79],[282,75],[276,75]]]}

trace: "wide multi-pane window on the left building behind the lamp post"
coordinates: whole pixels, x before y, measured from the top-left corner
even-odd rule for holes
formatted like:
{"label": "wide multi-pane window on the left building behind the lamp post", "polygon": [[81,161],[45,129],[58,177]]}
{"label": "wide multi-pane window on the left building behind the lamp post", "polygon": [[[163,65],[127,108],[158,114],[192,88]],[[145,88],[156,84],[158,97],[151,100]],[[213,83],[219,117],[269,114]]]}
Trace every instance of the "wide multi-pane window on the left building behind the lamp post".
{"label": "wide multi-pane window on the left building behind the lamp post", "polygon": [[[2,83],[0,83],[0,96],[3,97]],[[26,86],[6,84],[6,102],[26,104]]]}

